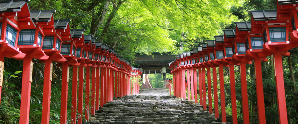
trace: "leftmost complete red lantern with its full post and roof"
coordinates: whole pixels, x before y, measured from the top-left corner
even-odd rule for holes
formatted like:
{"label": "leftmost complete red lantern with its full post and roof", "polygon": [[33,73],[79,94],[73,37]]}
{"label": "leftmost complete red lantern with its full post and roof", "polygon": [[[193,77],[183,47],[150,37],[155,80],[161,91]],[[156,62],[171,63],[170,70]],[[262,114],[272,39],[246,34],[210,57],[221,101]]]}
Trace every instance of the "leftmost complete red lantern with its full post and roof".
{"label": "leftmost complete red lantern with its full post and roof", "polygon": [[[30,106],[30,91],[32,82],[32,59],[46,60],[49,56],[45,55],[42,50],[43,37],[46,32],[53,32],[53,28],[44,29],[43,26],[54,23],[52,18],[53,12],[56,10],[32,10],[31,18],[35,24],[30,24],[28,28],[22,29],[19,32],[19,41],[17,47],[20,51],[26,53],[23,63],[23,78],[22,78],[22,99],[20,111],[20,123],[29,123],[29,106]],[[52,19],[52,20],[51,20]],[[19,20],[21,21],[21,20]],[[50,22],[52,21],[52,22]],[[29,24],[30,22],[27,22]]]}

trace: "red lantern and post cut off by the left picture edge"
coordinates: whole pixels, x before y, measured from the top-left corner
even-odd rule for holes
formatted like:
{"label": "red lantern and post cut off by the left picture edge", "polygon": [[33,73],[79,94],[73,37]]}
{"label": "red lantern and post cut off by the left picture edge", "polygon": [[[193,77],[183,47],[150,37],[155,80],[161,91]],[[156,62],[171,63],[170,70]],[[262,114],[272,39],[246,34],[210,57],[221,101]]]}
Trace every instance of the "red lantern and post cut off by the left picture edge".
{"label": "red lantern and post cut off by the left picture edge", "polygon": [[[7,6],[9,2],[11,1],[0,1],[0,6],[5,6],[0,11],[0,99],[3,85],[4,57],[13,59],[23,59],[25,57],[26,54],[19,51],[17,47],[19,31],[30,28],[30,24],[34,25],[34,22],[30,19],[31,15],[27,0],[12,1],[10,6]],[[14,8],[11,8],[11,6]]]}

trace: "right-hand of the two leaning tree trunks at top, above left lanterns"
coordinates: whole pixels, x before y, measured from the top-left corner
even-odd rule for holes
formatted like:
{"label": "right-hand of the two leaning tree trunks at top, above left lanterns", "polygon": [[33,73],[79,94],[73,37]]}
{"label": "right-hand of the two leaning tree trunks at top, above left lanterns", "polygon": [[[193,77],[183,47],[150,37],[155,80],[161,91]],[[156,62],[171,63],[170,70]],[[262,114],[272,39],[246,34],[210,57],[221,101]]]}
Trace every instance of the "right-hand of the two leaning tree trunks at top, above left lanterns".
{"label": "right-hand of the two leaning tree trunks at top, above left lanterns", "polygon": [[[126,1],[126,0],[125,0]],[[109,15],[109,18],[107,19],[106,21],[106,25],[105,25],[105,28],[103,28],[103,31],[102,31],[102,34],[100,35],[100,38],[99,38],[99,41],[102,42],[104,37],[106,36],[106,34],[108,33],[108,29],[109,29],[109,26],[114,18],[114,16],[116,15],[116,12],[118,11],[118,9],[120,8],[121,4],[125,1],[119,1],[117,6],[113,8],[111,14]]]}

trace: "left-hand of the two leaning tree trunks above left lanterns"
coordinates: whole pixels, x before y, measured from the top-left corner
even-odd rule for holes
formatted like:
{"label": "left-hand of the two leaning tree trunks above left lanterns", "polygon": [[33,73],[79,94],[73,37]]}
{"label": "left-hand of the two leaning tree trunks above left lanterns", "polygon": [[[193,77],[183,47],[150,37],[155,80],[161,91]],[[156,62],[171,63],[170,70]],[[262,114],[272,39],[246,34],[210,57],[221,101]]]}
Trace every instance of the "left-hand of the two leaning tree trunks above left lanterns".
{"label": "left-hand of the two leaning tree trunks above left lanterns", "polygon": [[94,17],[92,17],[89,34],[93,35],[93,37],[95,36],[98,27],[102,24],[103,19],[106,17],[106,12],[109,9],[110,1],[111,0],[106,0],[105,4],[103,5],[102,12],[99,13],[99,18],[97,17],[98,15],[94,15]]}

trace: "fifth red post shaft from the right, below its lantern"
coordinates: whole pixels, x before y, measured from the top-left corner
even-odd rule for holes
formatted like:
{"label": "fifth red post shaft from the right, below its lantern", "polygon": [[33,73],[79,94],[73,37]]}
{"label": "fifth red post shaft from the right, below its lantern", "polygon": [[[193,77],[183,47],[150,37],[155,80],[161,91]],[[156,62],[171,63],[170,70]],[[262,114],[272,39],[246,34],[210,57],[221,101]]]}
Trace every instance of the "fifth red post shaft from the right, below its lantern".
{"label": "fifth red post shaft from the right, below its lantern", "polygon": [[224,96],[224,68],[219,66],[219,85],[220,85],[220,103],[222,122],[227,122],[226,118],[226,101]]}

